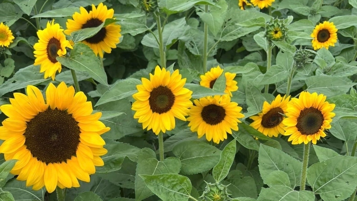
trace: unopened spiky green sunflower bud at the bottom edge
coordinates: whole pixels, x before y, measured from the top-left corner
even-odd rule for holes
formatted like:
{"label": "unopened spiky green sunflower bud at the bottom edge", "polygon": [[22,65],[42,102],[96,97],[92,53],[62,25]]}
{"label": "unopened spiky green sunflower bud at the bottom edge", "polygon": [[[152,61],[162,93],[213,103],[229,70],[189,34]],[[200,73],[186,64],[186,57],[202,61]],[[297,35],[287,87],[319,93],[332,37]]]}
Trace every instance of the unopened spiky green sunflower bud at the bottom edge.
{"label": "unopened spiky green sunflower bud at the bottom edge", "polygon": [[202,201],[228,201],[230,197],[227,193],[227,186],[220,183],[207,183],[206,189],[200,198],[203,199]]}

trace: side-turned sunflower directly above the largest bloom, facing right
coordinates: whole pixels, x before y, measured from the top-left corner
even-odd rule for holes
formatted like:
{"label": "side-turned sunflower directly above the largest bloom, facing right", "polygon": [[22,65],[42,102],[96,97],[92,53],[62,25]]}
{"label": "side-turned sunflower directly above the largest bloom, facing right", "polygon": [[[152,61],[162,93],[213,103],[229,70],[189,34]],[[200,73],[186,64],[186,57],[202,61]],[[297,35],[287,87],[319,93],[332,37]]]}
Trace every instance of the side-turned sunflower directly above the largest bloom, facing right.
{"label": "side-turned sunflower directly above the largest bloom, facing right", "polygon": [[54,80],[56,71],[62,70],[62,65],[56,57],[66,55],[66,47],[73,47],[66,40],[60,24],[55,24],[54,21],[47,22],[46,28],[39,30],[37,36],[40,40],[33,46],[36,57],[34,65],[41,65],[40,72],[45,72],[45,78],[51,77]]}

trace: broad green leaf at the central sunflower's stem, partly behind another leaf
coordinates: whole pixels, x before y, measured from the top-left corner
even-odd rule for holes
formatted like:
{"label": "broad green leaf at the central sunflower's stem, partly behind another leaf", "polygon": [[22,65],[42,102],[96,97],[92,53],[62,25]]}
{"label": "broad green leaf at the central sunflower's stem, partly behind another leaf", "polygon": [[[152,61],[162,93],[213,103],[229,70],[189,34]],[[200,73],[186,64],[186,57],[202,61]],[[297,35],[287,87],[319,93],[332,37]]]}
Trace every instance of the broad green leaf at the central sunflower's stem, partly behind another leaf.
{"label": "broad green leaf at the central sunflower's stem, partly behind another leaf", "polygon": [[[149,148],[144,148],[138,153],[135,176],[135,199],[142,201],[149,196],[154,195],[146,182],[139,175],[159,175],[159,174],[177,174],[180,171],[181,163],[176,157],[165,158],[164,161],[158,161],[156,154]],[[155,192],[154,192],[155,193]]]}

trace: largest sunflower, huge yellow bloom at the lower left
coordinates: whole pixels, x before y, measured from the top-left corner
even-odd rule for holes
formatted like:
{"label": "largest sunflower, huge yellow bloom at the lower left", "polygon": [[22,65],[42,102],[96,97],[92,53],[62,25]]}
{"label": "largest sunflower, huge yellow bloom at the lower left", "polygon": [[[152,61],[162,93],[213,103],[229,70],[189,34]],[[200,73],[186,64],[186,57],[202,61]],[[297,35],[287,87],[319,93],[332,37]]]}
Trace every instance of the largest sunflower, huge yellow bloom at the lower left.
{"label": "largest sunflower, huge yellow bloom at the lower left", "polygon": [[0,106],[9,118],[2,122],[0,146],[5,160],[18,159],[11,170],[34,190],[43,186],[49,193],[60,188],[79,187],[77,179],[89,182],[94,166],[104,165],[107,153],[100,136],[110,130],[98,121],[83,92],[62,82],[49,84],[46,102],[39,89],[27,86],[27,95],[14,93],[11,104]]}

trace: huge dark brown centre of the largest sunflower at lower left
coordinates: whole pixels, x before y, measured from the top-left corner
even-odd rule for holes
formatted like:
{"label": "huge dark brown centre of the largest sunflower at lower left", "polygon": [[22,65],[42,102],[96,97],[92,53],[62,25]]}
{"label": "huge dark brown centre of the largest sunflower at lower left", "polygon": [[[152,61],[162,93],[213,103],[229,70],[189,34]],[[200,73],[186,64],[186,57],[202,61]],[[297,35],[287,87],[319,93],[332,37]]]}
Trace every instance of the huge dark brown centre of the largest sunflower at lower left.
{"label": "huge dark brown centre of the largest sunflower at lower left", "polygon": [[48,108],[27,122],[25,145],[33,157],[45,163],[67,161],[76,156],[80,134],[71,114]]}

